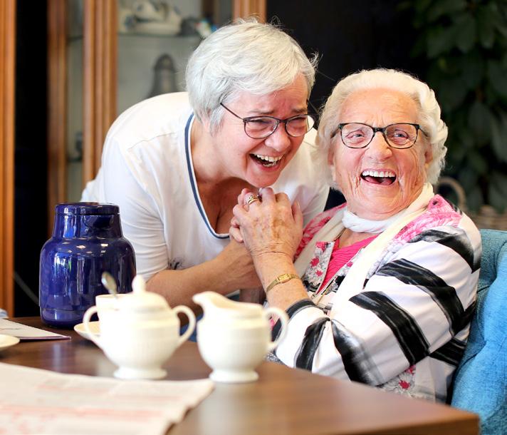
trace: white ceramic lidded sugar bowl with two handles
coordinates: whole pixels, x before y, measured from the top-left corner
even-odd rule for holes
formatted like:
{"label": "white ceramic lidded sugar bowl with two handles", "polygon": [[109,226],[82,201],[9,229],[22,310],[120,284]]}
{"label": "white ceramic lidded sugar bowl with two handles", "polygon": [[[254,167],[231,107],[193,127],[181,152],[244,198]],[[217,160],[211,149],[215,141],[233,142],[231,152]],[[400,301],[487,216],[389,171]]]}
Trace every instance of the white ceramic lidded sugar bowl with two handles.
{"label": "white ceramic lidded sugar bowl with two handles", "polygon": [[[90,307],[83,317],[88,337],[103,349],[119,369],[115,377],[121,379],[160,379],[166,371],[162,364],[194,331],[195,316],[189,307],[179,305],[171,309],[166,300],[147,292],[145,280],[137,275],[131,293],[115,300],[106,316],[100,317],[100,337],[90,329],[90,317],[97,307]],[[179,336],[179,318],[183,312],[189,319],[187,331]]]}

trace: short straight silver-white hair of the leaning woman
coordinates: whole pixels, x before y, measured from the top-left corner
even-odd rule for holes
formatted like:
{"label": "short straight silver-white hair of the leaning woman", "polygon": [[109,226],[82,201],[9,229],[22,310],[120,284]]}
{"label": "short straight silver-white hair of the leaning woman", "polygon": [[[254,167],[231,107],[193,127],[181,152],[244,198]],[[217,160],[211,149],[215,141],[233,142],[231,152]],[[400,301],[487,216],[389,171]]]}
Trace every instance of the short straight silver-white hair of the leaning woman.
{"label": "short straight silver-white hair of the leaning woman", "polygon": [[190,105],[216,131],[224,116],[220,103],[246,91],[259,96],[305,78],[308,96],[315,82],[317,56],[309,60],[299,44],[273,24],[239,19],[204,39],[187,63]]}

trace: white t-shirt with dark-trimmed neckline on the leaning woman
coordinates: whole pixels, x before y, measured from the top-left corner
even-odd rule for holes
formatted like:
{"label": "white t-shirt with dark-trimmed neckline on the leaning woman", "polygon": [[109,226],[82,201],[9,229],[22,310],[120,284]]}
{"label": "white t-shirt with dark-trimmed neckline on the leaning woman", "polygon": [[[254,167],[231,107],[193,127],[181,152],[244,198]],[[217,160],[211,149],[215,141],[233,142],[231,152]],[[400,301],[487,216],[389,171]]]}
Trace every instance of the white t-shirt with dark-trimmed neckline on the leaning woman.
{"label": "white t-shirt with dark-trimmed neckline on the leaning woman", "polygon": [[[102,166],[83,191],[83,201],[119,205],[123,235],[146,280],[167,268],[211,260],[229,243],[228,234],[214,232],[199,198],[190,148],[193,120],[184,92],[127,109],[110,128]],[[311,157],[314,139],[315,131],[305,135],[271,186],[299,201],[305,224],[324,209],[329,190]]]}

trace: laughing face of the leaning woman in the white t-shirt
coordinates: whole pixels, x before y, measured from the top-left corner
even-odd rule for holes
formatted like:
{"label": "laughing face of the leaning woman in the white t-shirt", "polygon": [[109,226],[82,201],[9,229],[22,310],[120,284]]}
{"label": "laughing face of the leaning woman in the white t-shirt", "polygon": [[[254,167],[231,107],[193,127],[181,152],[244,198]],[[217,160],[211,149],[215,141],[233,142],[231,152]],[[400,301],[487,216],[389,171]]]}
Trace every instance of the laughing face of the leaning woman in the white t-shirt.
{"label": "laughing face of the leaning woman in the white t-shirt", "polygon": [[[291,85],[266,96],[241,92],[226,106],[241,118],[274,116],[286,119],[307,113],[307,98],[306,81],[303,76],[298,76]],[[217,169],[224,178],[239,178],[262,188],[275,183],[296,154],[303,138],[289,136],[282,123],[267,138],[249,138],[243,121],[225,111],[219,130],[213,134],[215,155],[210,155],[210,158],[216,159]]]}

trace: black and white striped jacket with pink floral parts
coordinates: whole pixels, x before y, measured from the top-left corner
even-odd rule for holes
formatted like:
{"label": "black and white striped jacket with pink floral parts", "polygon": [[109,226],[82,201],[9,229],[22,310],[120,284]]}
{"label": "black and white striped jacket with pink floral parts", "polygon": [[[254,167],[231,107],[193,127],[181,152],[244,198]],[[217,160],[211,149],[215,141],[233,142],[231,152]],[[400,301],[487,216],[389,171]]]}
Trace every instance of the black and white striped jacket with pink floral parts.
{"label": "black and white striped jacket with pink floral parts", "polygon": [[[336,210],[318,215],[305,232]],[[332,250],[333,242],[317,244],[319,261],[303,275],[309,299],[288,308],[288,332],[276,356],[291,367],[445,401],[476,300],[481,237],[474,223],[434,196],[379,252],[362,291],[338,309],[333,303],[346,291],[340,285],[362,251],[322,296],[316,290],[325,274],[314,273],[315,263],[325,269]],[[273,336],[279,332],[278,322]]]}

